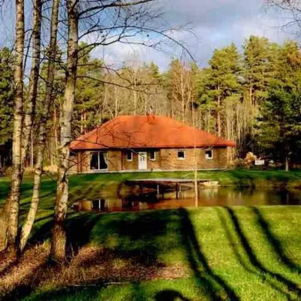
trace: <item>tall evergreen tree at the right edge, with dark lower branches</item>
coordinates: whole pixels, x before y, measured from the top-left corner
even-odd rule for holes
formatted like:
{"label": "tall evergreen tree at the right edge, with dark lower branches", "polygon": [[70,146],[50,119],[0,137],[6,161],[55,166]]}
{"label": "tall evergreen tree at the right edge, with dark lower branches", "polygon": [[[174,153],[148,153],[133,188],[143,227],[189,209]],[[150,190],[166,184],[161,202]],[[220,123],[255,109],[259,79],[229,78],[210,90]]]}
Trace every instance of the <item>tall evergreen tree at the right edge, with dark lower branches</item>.
{"label": "tall evergreen tree at the right edge, with dark lower branches", "polygon": [[261,107],[260,141],[288,170],[301,137],[301,54],[294,42],[279,50],[276,76]]}

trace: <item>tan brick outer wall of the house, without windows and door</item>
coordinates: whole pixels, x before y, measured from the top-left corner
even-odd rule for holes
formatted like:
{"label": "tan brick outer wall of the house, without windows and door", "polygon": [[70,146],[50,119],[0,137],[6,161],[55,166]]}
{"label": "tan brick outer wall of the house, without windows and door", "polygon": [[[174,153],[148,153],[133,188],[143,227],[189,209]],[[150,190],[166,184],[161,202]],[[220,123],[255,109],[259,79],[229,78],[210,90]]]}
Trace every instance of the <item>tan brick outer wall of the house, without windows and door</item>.
{"label": "tan brick outer wall of the house, without windows and door", "polygon": [[[227,167],[227,147],[213,149],[213,159],[205,158],[204,148],[181,149],[185,152],[185,159],[178,159],[178,149],[156,150],[156,160],[152,161],[147,152],[147,170],[193,170],[197,161],[197,168],[223,169]],[[195,159],[196,158],[196,159]],[[136,171],[138,170],[138,150],[133,152],[132,161],[127,160],[127,153],[123,150],[108,150],[108,171]],[[79,152],[72,157],[71,172],[85,173],[90,171],[90,152]]]}

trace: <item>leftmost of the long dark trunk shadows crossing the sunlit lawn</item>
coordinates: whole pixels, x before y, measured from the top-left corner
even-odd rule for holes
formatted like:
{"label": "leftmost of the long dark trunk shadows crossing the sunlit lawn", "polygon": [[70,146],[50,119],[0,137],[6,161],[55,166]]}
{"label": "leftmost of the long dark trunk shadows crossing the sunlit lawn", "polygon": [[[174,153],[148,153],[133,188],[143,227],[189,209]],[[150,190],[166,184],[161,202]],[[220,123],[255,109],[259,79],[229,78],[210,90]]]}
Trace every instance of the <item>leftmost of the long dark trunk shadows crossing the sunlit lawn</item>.
{"label": "leftmost of the long dark trunk shadows crossing the sunlit lawn", "polygon": [[[193,224],[186,209],[179,209],[182,223],[183,243],[186,247],[187,257],[190,266],[197,278],[198,285],[204,286],[206,292],[213,300],[222,300],[225,297],[231,300],[239,300],[234,290],[210,268],[202,248],[198,243]],[[201,272],[202,269],[204,272]],[[225,296],[226,294],[226,296]]]}

